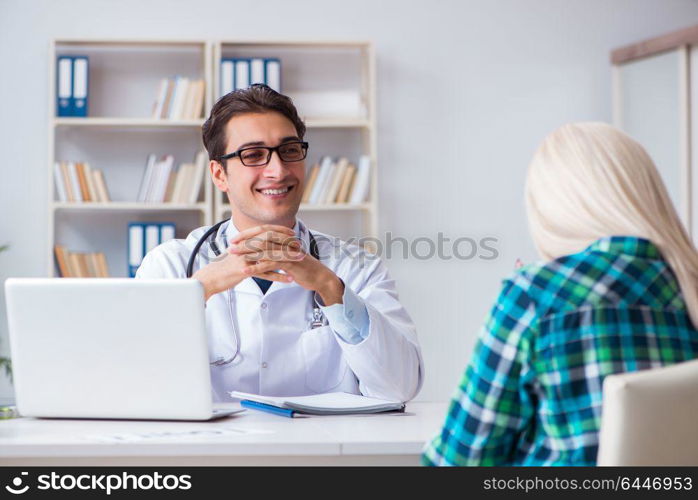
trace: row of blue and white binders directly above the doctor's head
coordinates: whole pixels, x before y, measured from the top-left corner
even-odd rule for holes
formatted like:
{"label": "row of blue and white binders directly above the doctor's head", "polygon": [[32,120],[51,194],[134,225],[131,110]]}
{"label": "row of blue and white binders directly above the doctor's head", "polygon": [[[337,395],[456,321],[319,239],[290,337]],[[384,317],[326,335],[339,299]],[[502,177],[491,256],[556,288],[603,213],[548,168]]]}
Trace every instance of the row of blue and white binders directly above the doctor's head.
{"label": "row of blue and white binders directly above the doctor's head", "polygon": [[220,65],[220,97],[264,83],[281,92],[281,60],[275,57],[226,57]]}

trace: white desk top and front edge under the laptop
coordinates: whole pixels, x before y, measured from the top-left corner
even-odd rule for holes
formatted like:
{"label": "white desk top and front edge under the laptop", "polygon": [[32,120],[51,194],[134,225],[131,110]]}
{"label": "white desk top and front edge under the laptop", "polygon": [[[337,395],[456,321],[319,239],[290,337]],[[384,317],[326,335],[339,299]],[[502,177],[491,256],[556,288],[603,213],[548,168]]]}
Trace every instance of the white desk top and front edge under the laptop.
{"label": "white desk top and front edge under the laptop", "polygon": [[446,409],[408,403],[405,413],[293,419],[247,410],[213,422],[0,420],[0,465],[417,465]]}

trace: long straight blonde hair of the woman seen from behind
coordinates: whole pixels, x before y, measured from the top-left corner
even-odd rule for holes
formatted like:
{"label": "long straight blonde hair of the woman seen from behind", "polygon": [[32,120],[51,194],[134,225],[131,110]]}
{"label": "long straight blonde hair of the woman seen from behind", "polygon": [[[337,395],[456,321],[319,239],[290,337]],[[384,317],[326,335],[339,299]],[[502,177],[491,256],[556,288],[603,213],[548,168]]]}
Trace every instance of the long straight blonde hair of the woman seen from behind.
{"label": "long straight blonde hair of the woman seen from behind", "polygon": [[583,250],[604,236],[654,243],[676,275],[698,327],[698,253],[644,148],[605,123],[572,123],[538,148],[526,179],[526,209],[541,256]]}

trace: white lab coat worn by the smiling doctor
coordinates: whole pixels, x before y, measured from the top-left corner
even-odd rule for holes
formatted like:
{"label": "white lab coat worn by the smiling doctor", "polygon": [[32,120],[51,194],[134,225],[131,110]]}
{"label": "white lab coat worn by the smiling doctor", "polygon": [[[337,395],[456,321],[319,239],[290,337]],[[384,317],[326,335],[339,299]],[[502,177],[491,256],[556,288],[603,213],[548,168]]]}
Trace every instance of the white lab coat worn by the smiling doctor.
{"label": "white lab coat worn by the smiling doctor", "polygon": [[[298,221],[304,248],[308,231]],[[196,242],[207,230],[194,230],[186,240],[171,240],[150,251],[137,278],[185,278]],[[216,243],[237,233],[223,224]],[[214,401],[228,401],[229,391],[270,396],[299,396],[343,391],[376,398],[408,401],[421,388],[424,368],[414,323],[402,307],[395,282],[380,259],[316,231],[322,263],[342,279],[368,311],[369,332],[356,345],[343,341],[332,326],[310,329],[314,294],[296,283],[274,282],[266,294],[247,278],[234,289],[212,296],[206,305],[209,357],[230,358],[236,351],[235,321],[240,353],[226,365],[211,366]],[[194,272],[212,255],[205,243]],[[232,299],[232,300],[231,300]]]}

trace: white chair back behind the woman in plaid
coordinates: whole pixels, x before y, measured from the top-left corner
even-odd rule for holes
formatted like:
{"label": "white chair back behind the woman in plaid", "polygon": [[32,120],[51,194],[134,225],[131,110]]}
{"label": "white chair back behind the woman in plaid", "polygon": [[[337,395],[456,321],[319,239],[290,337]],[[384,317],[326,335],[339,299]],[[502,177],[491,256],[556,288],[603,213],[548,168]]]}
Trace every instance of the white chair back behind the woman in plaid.
{"label": "white chair back behind the woman in plaid", "polygon": [[698,465],[698,360],[609,375],[598,465]]}

